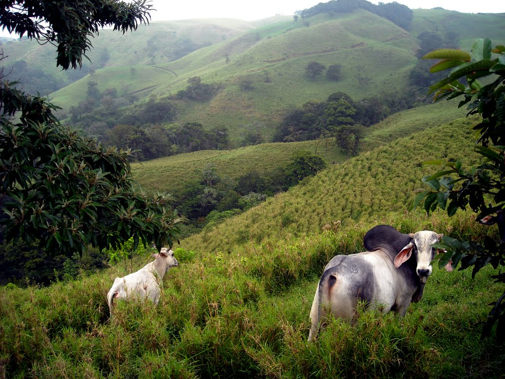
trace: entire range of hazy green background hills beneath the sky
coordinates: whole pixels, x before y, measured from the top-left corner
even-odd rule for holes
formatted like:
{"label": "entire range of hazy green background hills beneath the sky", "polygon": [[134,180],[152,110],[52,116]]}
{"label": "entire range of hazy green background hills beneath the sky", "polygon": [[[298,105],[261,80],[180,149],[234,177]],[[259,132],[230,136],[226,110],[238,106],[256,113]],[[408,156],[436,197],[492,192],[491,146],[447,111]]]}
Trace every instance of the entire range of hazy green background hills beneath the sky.
{"label": "entire range of hazy green background hills beneath the sky", "polygon": [[[104,128],[117,124],[120,117],[108,116],[107,109],[132,114],[154,100],[170,103],[177,111],[168,119],[178,124],[197,122],[207,130],[226,128],[231,147],[239,147],[247,132],[272,141],[286,112],[309,101],[324,101],[336,91],[355,100],[407,94],[410,73],[418,63],[416,53],[423,42],[418,37],[423,32],[450,37],[455,44],[452,47],[468,48],[476,36],[501,38],[501,28],[496,25],[504,23],[500,14],[442,9],[414,10],[408,30],[365,9],[317,13],[297,21],[278,16],[257,22],[156,22],[125,35],[101,31],[93,42],[93,63],[80,72],[59,73],[74,75],[60,79],[56,79],[55,69],[50,69],[52,59],[47,58],[53,53],[52,46],[20,41],[5,44],[4,50],[7,62],[25,61],[25,69],[47,62],[41,63],[47,66],[40,67],[41,73],[32,84],[52,78],[52,83],[66,85],[52,92],[50,99],[63,108],[63,117],[84,112],[82,119],[94,123],[93,130],[102,128],[104,133]],[[328,80],[324,75],[310,79],[305,68],[312,61],[326,67],[341,65],[340,80]],[[84,76],[75,80],[76,75]],[[202,100],[178,97],[193,77],[215,86],[212,96]],[[94,115],[84,110],[86,102],[92,104],[89,86],[93,83],[109,97],[102,113]],[[76,111],[79,104],[84,109]],[[141,117],[135,122],[141,123]]]}

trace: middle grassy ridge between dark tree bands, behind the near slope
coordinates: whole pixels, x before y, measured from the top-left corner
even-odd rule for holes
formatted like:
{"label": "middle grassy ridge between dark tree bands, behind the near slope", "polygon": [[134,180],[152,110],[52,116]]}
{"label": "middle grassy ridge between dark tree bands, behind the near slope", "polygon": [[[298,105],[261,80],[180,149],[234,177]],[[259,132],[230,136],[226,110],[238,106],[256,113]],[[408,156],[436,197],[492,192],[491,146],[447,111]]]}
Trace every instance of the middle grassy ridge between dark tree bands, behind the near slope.
{"label": "middle grassy ridge between dark tree bands, behind the near slope", "polygon": [[[428,127],[464,117],[455,101],[440,102],[418,107],[389,116],[366,130],[361,151],[369,151],[411,135]],[[153,191],[169,192],[178,197],[185,187],[201,177],[206,165],[211,164],[220,176],[236,179],[256,170],[261,176],[269,175],[284,166],[293,152],[307,150],[320,156],[328,166],[341,163],[347,156],[340,153],[333,140],[271,143],[225,151],[200,151],[133,163],[132,175],[143,187]]]}

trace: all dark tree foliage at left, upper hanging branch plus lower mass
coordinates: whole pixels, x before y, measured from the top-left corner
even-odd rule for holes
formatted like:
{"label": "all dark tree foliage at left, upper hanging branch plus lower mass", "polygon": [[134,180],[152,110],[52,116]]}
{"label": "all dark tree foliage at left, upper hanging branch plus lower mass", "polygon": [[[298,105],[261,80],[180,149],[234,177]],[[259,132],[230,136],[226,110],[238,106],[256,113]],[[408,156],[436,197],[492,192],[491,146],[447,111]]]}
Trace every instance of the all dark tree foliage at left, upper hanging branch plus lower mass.
{"label": "all dark tree foliage at left, upper hanging branch plus lower mass", "polygon": [[[99,27],[134,30],[147,22],[150,7],[145,1],[8,2],[0,25],[56,40],[57,64],[67,69],[81,64]],[[181,219],[169,196],[134,186],[131,151],[105,149],[64,127],[53,114],[57,107],[15,84],[0,80],[0,240],[38,242],[68,256],[87,245],[117,248],[130,238],[134,249],[140,242],[172,246]]]}

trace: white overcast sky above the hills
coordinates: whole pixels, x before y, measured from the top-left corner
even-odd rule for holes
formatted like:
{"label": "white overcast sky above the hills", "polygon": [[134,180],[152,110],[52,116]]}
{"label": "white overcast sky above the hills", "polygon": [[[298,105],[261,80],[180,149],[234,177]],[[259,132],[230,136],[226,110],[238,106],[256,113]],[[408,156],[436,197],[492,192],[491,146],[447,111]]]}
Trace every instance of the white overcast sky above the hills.
{"label": "white overcast sky above the hills", "polygon": [[[325,0],[322,0],[326,3]],[[383,0],[383,3],[389,3]],[[398,0],[411,9],[442,7],[464,13],[505,13],[503,0]],[[188,18],[238,18],[245,21],[260,20],[311,8],[321,0],[152,0],[157,11],[151,12],[152,21],[182,20]],[[371,3],[378,4],[377,1]],[[0,28],[0,36],[8,36]]]}

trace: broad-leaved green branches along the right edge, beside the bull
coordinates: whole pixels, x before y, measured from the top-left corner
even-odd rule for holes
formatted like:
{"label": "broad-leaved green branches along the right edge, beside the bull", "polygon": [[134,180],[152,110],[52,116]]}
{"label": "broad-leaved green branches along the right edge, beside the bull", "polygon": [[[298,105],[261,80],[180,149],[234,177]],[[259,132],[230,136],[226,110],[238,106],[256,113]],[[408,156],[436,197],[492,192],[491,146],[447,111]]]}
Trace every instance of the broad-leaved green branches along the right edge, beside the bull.
{"label": "broad-leaved green branches along the right edge, beside the bull", "polygon": [[[473,276],[487,264],[505,266],[505,46],[492,48],[491,40],[477,39],[471,54],[461,50],[441,49],[424,59],[438,59],[431,72],[451,69],[449,74],[430,87],[434,100],[463,97],[459,107],[466,106],[467,116],[479,114],[481,121],[473,127],[479,139],[475,148],[482,163],[465,169],[461,161],[425,162],[440,166],[440,171],[425,176],[428,189],[419,190],[412,208],[423,204],[429,214],[437,208],[449,216],[469,206],[478,214],[476,221],[498,227],[498,239],[486,237],[482,245],[444,237],[436,247],[447,250],[437,257],[439,266],[452,262],[460,269],[473,266]],[[483,84],[479,81],[485,78]],[[505,282],[505,274],[495,275]],[[505,294],[504,294],[505,295]],[[493,304],[482,336],[489,334],[498,321],[498,334],[505,339],[505,296]]]}

